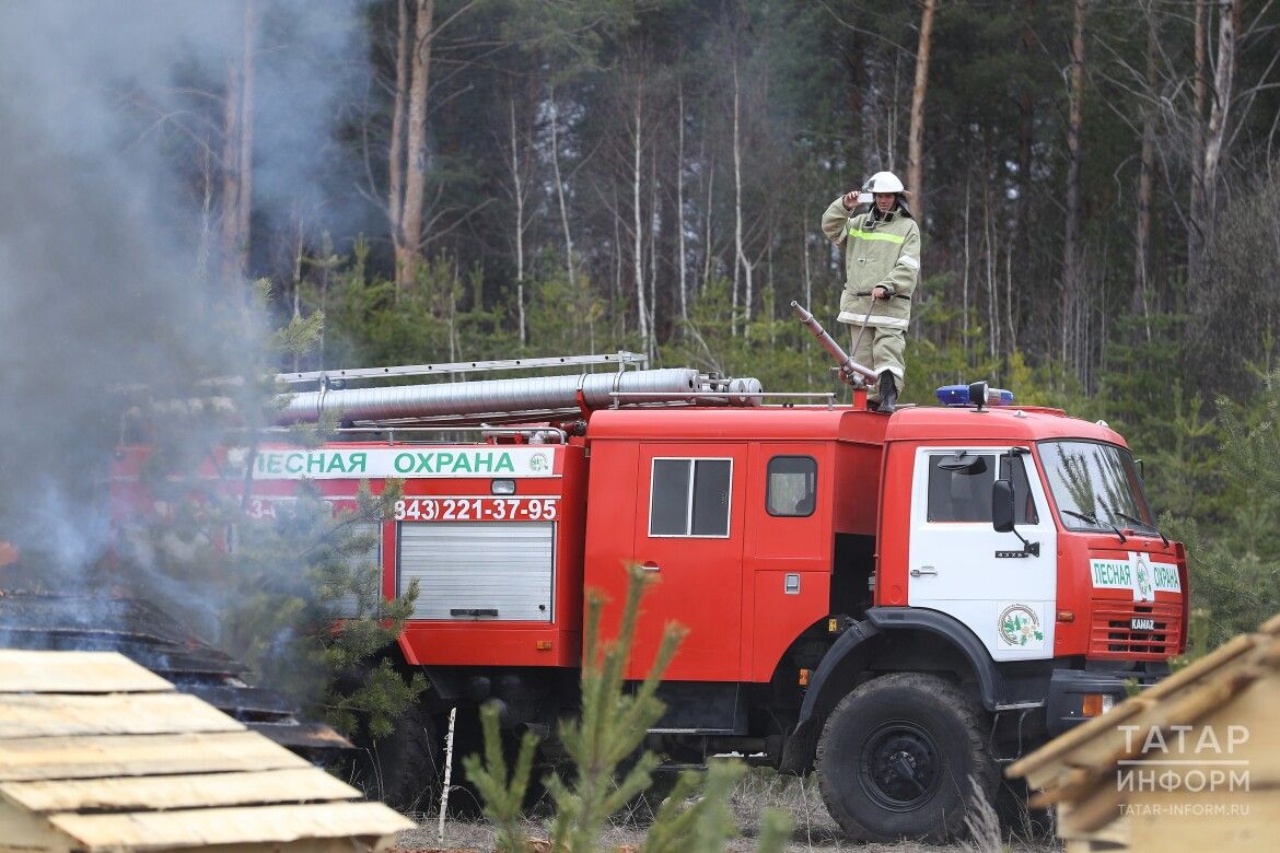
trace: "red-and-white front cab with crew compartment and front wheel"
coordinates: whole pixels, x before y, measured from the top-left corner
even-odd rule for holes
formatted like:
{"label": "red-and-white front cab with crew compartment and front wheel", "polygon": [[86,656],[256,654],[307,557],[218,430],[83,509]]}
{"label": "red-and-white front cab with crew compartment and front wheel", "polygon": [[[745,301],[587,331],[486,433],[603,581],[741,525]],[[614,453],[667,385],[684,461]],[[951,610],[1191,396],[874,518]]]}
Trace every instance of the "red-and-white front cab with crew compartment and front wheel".
{"label": "red-and-white front cab with crew compartment and front wheel", "polygon": [[585,584],[618,600],[628,560],[660,578],[630,675],[666,620],[689,628],[655,739],[792,772],[817,758],[855,836],[937,834],[947,779],[983,779],[1184,648],[1181,547],[1103,425],[1006,407],[599,412],[588,446]]}

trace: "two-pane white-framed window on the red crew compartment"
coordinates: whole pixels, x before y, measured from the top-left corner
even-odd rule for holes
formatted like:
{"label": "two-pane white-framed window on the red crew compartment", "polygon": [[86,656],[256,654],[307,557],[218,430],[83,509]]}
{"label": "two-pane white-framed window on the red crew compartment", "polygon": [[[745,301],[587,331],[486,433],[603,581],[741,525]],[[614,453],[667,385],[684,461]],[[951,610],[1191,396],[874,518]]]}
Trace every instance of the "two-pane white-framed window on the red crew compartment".
{"label": "two-pane white-framed window on the red crew compartment", "polygon": [[654,459],[649,536],[728,536],[732,459]]}

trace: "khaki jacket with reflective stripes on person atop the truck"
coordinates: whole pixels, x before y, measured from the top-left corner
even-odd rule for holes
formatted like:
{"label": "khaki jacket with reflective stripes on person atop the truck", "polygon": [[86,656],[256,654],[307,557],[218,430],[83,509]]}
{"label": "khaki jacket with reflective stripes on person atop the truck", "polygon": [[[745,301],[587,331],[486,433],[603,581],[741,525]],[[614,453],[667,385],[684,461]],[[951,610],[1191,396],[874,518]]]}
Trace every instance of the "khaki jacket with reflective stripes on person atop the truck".
{"label": "khaki jacket with reflective stripes on person atop the truck", "polygon": [[822,215],[822,231],[836,246],[845,246],[847,280],[837,320],[861,325],[872,308],[872,290],[884,286],[891,295],[876,301],[867,325],[906,329],[920,278],[920,228],[915,220],[899,212],[879,221],[873,221],[870,214],[850,216],[842,198],[837,198]]}

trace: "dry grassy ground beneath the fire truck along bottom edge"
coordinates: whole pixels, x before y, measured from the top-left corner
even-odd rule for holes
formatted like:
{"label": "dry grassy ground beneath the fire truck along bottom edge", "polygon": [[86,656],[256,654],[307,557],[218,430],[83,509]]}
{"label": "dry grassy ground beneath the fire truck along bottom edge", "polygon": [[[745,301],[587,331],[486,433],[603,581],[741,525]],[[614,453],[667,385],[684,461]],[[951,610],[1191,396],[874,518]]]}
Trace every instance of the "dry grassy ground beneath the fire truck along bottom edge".
{"label": "dry grassy ground beneath the fire truck along bottom edge", "polygon": [[[827,815],[817,784],[812,778],[803,780],[787,776],[764,779],[755,775],[748,776],[733,793],[733,811],[737,815],[741,838],[730,844],[731,850],[749,853],[755,849],[754,836],[759,829],[760,813],[764,808],[771,807],[782,810],[791,816],[795,830],[787,848],[788,853],[809,850],[824,853],[828,850],[859,850],[859,853],[1004,853],[1005,850],[1010,853],[1053,853],[1061,850],[1060,847],[1050,841],[1014,840],[1010,843],[1009,839],[1001,838],[998,829],[993,826],[995,815],[989,815],[991,824],[979,826],[972,840],[960,844],[947,847],[911,841],[859,844],[845,838],[838,825]],[[417,813],[410,817],[419,824],[419,829],[401,834],[398,841],[402,850],[439,848],[475,850],[476,853],[493,850],[494,833],[484,821],[447,820],[444,822],[444,839],[440,843],[438,813]],[[650,817],[648,803],[636,803],[630,812],[620,815],[613,821],[603,840],[613,847],[637,845],[644,840],[645,826]],[[527,831],[531,838],[547,838],[547,830],[540,820],[530,820]]]}

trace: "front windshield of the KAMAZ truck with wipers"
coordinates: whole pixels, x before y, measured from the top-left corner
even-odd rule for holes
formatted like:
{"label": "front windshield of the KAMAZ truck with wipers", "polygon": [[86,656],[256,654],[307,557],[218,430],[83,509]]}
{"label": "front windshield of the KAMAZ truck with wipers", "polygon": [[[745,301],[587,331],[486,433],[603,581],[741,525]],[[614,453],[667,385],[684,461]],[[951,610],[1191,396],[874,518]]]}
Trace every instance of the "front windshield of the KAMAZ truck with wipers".
{"label": "front windshield of the KAMAZ truck with wipers", "polygon": [[1098,441],[1041,441],[1039,457],[1068,529],[1156,529],[1128,450]]}

